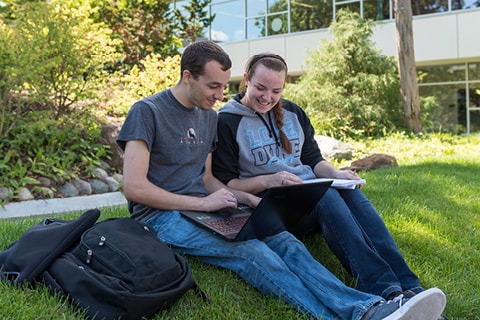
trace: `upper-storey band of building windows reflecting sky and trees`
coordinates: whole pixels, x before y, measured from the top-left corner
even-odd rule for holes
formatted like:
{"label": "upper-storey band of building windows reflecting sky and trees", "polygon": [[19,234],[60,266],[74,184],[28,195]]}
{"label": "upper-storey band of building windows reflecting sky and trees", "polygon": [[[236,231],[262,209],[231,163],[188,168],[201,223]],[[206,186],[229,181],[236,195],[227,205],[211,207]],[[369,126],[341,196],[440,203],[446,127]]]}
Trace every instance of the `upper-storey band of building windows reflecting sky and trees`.
{"label": "upper-storey band of building windows reflecting sky and trees", "polygon": [[[215,19],[206,36],[217,42],[242,41],[328,28],[340,9],[375,21],[394,19],[394,0],[212,0]],[[180,8],[187,1],[173,1]],[[411,0],[413,15],[480,8],[479,0]]]}

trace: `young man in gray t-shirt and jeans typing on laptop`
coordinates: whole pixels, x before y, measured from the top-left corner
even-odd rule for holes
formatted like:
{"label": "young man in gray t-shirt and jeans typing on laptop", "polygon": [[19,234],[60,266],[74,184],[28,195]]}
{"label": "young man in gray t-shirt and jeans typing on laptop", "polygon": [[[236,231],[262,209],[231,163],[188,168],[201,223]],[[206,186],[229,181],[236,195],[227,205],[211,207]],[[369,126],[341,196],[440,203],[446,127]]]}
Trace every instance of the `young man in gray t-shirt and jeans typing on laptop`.
{"label": "young man in gray t-shirt and jeans typing on laptop", "polygon": [[434,320],[445,296],[431,289],[412,299],[383,298],[344,285],[292,234],[227,242],[181,217],[180,210],[255,207],[259,198],[227,188],[211,171],[217,115],[231,61],[213,42],[188,46],[181,79],[138,101],[118,144],[124,149],[124,193],[132,217],[150,224],[177,252],[236,272],[260,292],[279,297],[313,318]]}

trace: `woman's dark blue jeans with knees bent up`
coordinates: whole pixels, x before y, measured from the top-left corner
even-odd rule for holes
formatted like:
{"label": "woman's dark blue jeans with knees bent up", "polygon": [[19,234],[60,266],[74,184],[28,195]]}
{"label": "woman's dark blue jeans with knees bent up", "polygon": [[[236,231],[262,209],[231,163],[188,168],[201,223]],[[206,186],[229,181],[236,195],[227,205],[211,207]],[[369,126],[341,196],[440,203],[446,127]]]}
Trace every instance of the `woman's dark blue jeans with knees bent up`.
{"label": "woman's dark blue jeans with knees bent up", "polygon": [[330,188],[297,236],[320,227],[357,289],[386,298],[394,291],[423,290],[382,218],[359,189]]}

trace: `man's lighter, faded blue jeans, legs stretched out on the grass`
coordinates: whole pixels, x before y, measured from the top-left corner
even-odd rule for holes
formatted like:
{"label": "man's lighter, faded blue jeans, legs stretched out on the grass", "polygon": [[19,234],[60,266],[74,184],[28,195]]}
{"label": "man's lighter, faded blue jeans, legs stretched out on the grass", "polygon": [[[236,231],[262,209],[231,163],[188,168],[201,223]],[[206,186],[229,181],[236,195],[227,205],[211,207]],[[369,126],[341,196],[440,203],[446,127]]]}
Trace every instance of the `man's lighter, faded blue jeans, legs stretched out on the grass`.
{"label": "man's lighter, faded blue jeans, legs stretched out on the grass", "polygon": [[175,251],[230,269],[261,293],[281,298],[313,318],[359,320],[382,300],[346,286],[288,232],[228,242],[185,220],[178,211],[159,211],[146,222]]}

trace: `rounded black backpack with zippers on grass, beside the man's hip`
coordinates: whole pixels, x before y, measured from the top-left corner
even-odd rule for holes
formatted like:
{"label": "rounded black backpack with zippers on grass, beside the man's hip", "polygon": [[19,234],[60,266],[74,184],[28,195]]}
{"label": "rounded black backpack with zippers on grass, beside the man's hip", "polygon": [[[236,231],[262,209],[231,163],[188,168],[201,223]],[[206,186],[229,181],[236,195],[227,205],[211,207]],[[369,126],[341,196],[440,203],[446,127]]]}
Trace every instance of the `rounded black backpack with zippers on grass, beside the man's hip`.
{"label": "rounded black backpack with zippers on grass, beside the man's hip", "polygon": [[38,282],[95,320],[149,317],[190,289],[209,301],[183,257],[148,225],[131,218],[95,223],[53,259],[36,277]]}

